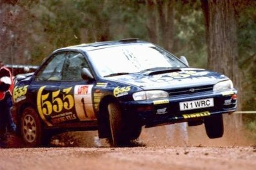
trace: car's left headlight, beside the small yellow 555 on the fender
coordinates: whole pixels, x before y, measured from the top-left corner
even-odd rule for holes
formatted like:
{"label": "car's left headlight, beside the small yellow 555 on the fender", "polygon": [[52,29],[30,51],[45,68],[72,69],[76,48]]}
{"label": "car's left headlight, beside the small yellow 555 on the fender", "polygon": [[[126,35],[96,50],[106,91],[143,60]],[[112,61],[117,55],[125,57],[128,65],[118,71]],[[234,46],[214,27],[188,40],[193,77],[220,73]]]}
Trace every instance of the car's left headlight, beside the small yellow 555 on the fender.
{"label": "car's left headlight, beside the small yellow 555 on the fender", "polygon": [[168,98],[168,92],[162,90],[148,90],[133,93],[132,97],[135,101],[145,99]]}

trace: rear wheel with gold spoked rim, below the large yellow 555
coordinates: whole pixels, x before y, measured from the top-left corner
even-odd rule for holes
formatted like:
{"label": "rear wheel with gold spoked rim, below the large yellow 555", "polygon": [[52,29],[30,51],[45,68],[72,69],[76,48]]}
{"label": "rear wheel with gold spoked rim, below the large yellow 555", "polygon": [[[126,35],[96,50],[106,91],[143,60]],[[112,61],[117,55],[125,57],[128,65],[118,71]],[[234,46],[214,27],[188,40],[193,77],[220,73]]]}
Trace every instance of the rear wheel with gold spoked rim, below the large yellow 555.
{"label": "rear wheel with gold spoked rim, below the large yellow 555", "polygon": [[50,142],[50,136],[44,135],[40,117],[32,107],[27,107],[23,110],[21,135],[26,146],[30,148],[46,146]]}

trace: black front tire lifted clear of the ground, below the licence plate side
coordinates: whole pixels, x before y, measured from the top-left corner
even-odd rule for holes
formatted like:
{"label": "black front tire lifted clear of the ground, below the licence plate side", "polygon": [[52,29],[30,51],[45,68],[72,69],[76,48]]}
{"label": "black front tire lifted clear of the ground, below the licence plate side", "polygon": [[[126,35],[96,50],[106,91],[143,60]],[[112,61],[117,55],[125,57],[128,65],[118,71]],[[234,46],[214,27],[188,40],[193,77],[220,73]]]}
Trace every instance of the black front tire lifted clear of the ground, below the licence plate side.
{"label": "black front tire lifted clear of the ground, below the licence plate side", "polygon": [[224,133],[222,115],[212,115],[204,118],[204,127],[210,139],[222,137]]}

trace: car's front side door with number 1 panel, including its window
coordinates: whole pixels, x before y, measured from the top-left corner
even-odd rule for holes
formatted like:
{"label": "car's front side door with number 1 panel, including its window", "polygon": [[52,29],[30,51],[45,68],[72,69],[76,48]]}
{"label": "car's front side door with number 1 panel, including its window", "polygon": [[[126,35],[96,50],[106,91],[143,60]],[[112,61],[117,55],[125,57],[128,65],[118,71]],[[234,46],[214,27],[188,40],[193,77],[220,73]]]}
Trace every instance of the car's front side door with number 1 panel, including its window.
{"label": "car's front side door with number 1 panel, including its window", "polygon": [[[73,94],[74,103],[71,98],[65,98],[66,107],[74,106],[74,112],[66,113],[67,121],[95,121],[95,113],[92,102],[92,87],[94,81],[84,80],[81,76],[83,68],[89,69],[83,54],[78,52],[70,52],[66,56],[66,62],[63,65],[61,89],[65,93],[63,95]],[[90,70],[90,69],[89,69]]]}

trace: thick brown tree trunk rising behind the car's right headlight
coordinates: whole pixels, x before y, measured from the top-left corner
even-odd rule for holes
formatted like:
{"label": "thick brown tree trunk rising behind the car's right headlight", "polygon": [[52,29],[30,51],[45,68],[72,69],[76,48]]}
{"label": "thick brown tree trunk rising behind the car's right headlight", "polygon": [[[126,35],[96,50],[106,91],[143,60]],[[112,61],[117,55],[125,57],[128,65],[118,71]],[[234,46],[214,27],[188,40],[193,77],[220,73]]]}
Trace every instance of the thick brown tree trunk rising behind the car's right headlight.
{"label": "thick brown tree trunk rising behind the car's right headlight", "polygon": [[[208,69],[228,76],[241,95],[241,81],[238,66],[237,22],[235,20],[235,0],[201,0],[206,25]],[[239,101],[239,100],[238,100]],[[238,103],[238,110],[241,103]],[[233,115],[224,120],[226,126],[238,130],[242,126],[242,116]]]}

